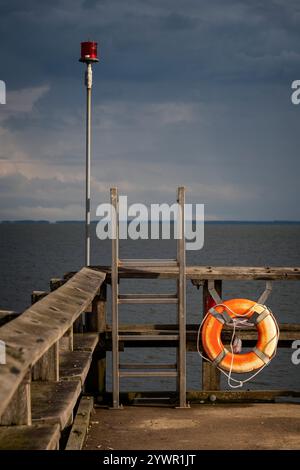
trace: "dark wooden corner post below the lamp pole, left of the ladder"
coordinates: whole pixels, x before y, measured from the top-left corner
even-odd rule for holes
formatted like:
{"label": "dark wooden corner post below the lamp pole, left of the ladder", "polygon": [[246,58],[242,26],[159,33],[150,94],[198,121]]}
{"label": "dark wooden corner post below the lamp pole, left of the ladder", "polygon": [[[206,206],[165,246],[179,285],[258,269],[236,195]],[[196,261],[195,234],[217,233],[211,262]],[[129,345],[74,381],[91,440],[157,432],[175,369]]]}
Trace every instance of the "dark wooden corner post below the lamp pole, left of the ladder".
{"label": "dark wooden corner post below the lamp pole, left of the ladder", "polygon": [[106,331],[106,284],[102,284],[100,294],[94,298],[92,312],[87,314],[88,331],[99,333],[90,372],[86,381],[86,390],[103,397],[106,392],[106,350],[104,347]]}

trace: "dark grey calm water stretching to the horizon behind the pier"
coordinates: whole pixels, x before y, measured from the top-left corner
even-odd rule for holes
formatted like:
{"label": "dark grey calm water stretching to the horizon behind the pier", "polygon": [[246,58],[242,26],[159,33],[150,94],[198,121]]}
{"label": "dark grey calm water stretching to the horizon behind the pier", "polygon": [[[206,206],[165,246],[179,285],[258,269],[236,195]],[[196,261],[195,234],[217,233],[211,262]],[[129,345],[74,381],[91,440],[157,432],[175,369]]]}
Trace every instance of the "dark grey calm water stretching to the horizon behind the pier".
{"label": "dark grey calm water stretching to the horizon behind the pier", "polygon": [[[93,230],[95,233],[95,230]],[[62,224],[0,224],[0,309],[24,310],[33,290],[48,290],[51,277],[61,277],[84,263],[84,226]],[[110,264],[110,243],[92,241],[92,263]],[[172,258],[175,244],[169,241],[122,241],[121,257]],[[187,252],[188,264],[300,266],[300,224],[207,224],[205,245],[199,252]],[[299,322],[299,282],[275,282],[268,300],[279,322]],[[168,292],[174,281],[122,281],[123,292]],[[261,281],[225,282],[223,297],[256,299],[264,289]],[[188,283],[187,321],[199,323],[202,315],[201,290]],[[108,317],[109,317],[108,305]],[[175,306],[122,306],[124,323],[168,323],[176,319]],[[299,338],[300,339],[300,338]],[[300,365],[291,363],[290,349],[279,350],[271,365],[247,388],[300,388]],[[127,350],[124,362],[173,362],[175,351],[167,349]],[[125,358],[126,356],[126,358]],[[199,388],[201,364],[196,353],[188,354],[188,387]],[[110,383],[110,377],[108,377]],[[124,389],[174,389],[173,379],[127,379]],[[224,384],[225,385],[225,384]]]}

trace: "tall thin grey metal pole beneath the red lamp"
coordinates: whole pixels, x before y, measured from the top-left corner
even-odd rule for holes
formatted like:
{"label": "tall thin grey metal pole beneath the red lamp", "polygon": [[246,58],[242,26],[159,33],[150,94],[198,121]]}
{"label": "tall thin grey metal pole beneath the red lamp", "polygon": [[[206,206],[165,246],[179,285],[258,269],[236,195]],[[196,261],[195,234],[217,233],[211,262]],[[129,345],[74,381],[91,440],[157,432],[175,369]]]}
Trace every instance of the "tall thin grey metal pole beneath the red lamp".
{"label": "tall thin grey metal pole beneath the red lamp", "polygon": [[85,181],[85,265],[91,262],[91,103],[92,103],[92,64],[88,63],[85,73],[86,84],[86,181]]}

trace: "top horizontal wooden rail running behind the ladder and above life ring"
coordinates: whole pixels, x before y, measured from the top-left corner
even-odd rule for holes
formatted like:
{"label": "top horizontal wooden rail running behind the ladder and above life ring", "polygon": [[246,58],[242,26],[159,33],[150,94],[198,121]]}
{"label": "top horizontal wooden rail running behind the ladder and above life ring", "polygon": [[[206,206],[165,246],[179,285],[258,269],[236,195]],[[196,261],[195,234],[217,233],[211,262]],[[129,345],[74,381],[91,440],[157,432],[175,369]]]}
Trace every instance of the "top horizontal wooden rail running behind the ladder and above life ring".
{"label": "top horizontal wooden rail running behind the ladder and above life ring", "polygon": [[[107,274],[110,282],[110,266],[94,266]],[[69,273],[71,275],[71,273]],[[121,278],[168,278],[178,277],[176,267],[140,267],[119,268]],[[187,279],[195,280],[300,280],[300,267],[268,267],[268,266],[187,266]]]}

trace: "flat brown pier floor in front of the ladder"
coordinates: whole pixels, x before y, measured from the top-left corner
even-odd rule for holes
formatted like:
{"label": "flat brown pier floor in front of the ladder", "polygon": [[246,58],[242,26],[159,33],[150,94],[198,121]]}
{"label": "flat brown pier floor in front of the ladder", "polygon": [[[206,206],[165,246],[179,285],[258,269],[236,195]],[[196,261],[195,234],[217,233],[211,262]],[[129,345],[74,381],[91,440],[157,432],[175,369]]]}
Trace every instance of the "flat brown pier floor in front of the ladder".
{"label": "flat brown pier floor in front of the ladder", "polygon": [[300,449],[300,404],[96,408],[84,449]]}

